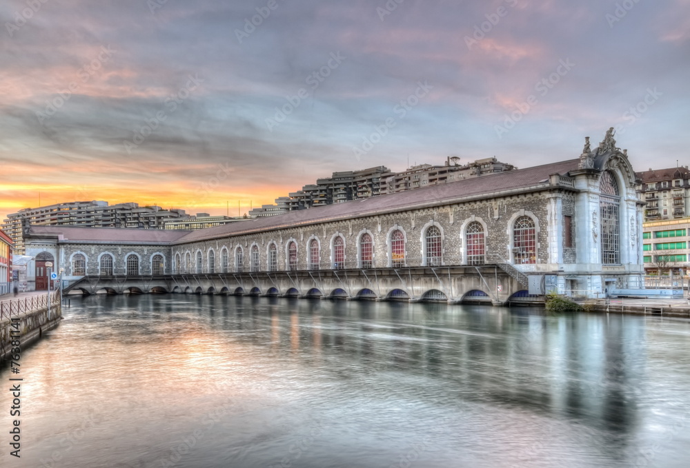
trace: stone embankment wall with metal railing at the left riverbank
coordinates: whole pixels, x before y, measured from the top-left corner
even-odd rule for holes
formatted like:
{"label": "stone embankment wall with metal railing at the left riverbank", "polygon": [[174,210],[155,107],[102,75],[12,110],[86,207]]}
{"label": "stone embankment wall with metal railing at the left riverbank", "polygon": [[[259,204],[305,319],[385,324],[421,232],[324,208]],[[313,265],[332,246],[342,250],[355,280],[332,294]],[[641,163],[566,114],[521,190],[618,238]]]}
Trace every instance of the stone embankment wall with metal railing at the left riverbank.
{"label": "stone embankment wall with metal railing at the left riverbank", "polygon": [[0,361],[9,358],[11,340],[19,337],[24,350],[43,333],[57,327],[62,319],[62,307],[56,294],[50,298],[50,311],[46,294],[2,301],[0,312]]}

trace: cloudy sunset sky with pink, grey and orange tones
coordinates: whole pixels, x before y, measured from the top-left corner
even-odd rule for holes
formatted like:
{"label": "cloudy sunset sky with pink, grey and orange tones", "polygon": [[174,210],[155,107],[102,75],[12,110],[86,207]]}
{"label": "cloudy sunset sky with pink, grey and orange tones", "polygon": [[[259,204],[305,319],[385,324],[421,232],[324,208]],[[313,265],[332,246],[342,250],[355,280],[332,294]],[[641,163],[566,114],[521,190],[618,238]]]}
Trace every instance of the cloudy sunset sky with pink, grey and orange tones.
{"label": "cloudy sunset sky with pink, grey and orange tones", "polygon": [[244,214],[335,171],[689,164],[690,0],[4,0],[0,219]]}

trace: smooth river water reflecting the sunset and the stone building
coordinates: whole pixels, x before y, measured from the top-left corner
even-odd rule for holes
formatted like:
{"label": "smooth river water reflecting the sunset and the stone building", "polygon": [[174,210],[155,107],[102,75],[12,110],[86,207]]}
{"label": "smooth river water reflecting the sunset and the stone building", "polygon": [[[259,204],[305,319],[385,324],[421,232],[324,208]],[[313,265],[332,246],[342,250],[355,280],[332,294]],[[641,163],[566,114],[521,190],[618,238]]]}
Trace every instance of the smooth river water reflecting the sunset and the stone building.
{"label": "smooth river water reflecting the sunset and the stone building", "polygon": [[690,322],[490,306],[72,298],[1,467],[688,467]]}

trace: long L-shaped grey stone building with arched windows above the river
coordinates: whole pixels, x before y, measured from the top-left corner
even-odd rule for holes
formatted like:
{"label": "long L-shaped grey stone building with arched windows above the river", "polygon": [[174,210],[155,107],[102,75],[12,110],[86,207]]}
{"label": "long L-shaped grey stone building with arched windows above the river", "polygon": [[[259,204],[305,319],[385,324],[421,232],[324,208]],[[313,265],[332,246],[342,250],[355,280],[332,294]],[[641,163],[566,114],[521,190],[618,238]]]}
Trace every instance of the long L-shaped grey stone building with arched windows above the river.
{"label": "long L-shaped grey stone building with arched windows above the river", "polygon": [[83,292],[505,303],[644,287],[642,207],[613,130],[579,158],[195,232],[32,226],[26,252]]}

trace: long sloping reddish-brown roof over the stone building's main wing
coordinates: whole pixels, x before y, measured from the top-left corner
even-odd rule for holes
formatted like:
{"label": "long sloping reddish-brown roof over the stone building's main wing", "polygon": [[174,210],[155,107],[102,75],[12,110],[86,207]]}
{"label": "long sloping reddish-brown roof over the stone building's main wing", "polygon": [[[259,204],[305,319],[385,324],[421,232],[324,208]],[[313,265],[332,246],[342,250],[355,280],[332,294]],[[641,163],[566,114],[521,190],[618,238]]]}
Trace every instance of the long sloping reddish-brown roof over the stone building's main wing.
{"label": "long sloping reddish-brown roof over the stone building's main wing", "polygon": [[566,175],[572,170],[577,170],[579,162],[579,159],[571,159],[569,161],[527,167],[521,170],[497,172],[442,185],[431,185],[429,187],[406,190],[405,192],[377,195],[368,199],[336,203],[309,210],[298,210],[277,216],[254,218],[242,223],[230,223],[189,232],[172,242],[181,244],[206,241],[229,235],[250,234],[252,232],[294,227],[295,225],[339,221],[355,216],[371,216],[386,212],[444,205],[473,198],[488,198],[489,196],[500,195],[504,192],[536,187],[538,185],[547,187],[551,174]]}

